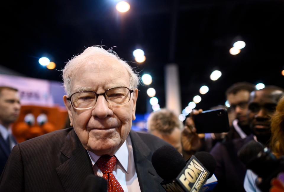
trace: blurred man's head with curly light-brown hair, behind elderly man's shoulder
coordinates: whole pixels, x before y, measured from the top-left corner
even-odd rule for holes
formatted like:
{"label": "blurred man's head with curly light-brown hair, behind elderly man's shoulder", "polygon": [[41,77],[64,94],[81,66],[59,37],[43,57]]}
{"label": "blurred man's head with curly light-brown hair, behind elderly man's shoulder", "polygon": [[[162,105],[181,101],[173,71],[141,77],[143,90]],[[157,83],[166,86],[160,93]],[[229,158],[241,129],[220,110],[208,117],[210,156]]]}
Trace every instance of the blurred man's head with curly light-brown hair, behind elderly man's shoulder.
{"label": "blurred man's head with curly light-brown hair, behind elderly man's shoulder", "polygon": [[149,132],[170,143],[180,154],[182,153],[181,127],[178,116],[168,109],[152,112],[147,121]]}

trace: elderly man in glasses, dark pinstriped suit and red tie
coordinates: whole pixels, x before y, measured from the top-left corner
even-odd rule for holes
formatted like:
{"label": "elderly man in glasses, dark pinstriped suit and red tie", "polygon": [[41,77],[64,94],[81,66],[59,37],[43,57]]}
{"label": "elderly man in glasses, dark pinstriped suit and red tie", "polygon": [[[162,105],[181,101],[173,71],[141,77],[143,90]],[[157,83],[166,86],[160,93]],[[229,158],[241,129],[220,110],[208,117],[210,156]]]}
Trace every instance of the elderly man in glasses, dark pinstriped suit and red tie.
{"label": "elderly man in glasses, dark pinstriped suit and red tie", "polygon": [[72,128],[16,145],[0,191],[80,191],[90,174],[108,191],[159,191],[151,156],[163,140],[130,131],[138,77],[112,50],[87,48],[63,70],[63,96]]}

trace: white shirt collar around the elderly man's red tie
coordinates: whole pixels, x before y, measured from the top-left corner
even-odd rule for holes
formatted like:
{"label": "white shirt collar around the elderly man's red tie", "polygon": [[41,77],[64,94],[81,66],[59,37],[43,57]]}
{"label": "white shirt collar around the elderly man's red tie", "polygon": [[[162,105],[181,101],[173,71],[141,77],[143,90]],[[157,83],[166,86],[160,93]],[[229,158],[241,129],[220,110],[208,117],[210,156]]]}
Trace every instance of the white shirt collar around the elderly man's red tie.
{"label": "white shirt collar around the elderly man's red tie", "polygon": [[[128,135],[128,137],[130,137],[130,136]],[[122,165],[122,167],[124,168],[124,170],[126,172],[127,172],[127,169],[128,169],[128,155],[129,155],[128,148],[127,148],[127,146],[128,146],[127,140],[128,139],[126,139],[124,141],[122,146],[120,146],[120,148],[114,154],[116,156],[116,159],[120,162],[120,164]],[[101,156],[94,154],[91,151],[88,151],[88,154],[89,154],[89,157],[91,159],[92,165],[96,164],[96,162],[101,157]]]}

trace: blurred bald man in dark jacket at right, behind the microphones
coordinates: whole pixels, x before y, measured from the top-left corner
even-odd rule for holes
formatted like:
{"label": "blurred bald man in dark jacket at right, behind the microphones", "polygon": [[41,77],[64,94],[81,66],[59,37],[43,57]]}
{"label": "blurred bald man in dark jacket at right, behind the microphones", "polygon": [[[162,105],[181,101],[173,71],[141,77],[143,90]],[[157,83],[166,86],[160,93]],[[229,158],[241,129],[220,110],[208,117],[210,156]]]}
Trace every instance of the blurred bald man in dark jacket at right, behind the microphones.
{"label": "blurred bald man in dark jacket at right, behind the microphones", "polygon": [[250,94],[247,117],[253,134],[246,138],[217,143],[210,152],[217,162],[214,174],[218,184],[214,191],[244,191],[246,168],[237,153],[245,143],[253,139],[264,145],[267,144],[271,136],[271,117],[283,94],[284,90],[276,86],[266,86]]}

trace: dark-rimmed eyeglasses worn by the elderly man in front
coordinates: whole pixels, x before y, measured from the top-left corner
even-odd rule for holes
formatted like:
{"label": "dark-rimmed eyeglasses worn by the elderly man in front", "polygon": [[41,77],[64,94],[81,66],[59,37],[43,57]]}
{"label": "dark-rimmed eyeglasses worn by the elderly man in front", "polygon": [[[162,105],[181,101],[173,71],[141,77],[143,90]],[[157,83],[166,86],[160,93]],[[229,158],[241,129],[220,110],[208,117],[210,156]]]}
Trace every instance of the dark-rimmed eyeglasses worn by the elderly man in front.
{"label": "dark-rimmed eyeglasses worn by the elderly man in front", "polygon": [[104,93],[95,93],[94,91],[79,91],[73,93],[67,98],[71,105],[78,110],[91,109],[95,106],[96,101],[100,95],[103,95],[106,101],[112,105],[122,105],[130,101],[131,93],[127,87],[115,87],[106,90]]}

